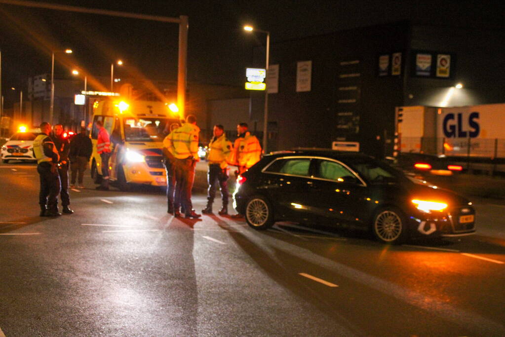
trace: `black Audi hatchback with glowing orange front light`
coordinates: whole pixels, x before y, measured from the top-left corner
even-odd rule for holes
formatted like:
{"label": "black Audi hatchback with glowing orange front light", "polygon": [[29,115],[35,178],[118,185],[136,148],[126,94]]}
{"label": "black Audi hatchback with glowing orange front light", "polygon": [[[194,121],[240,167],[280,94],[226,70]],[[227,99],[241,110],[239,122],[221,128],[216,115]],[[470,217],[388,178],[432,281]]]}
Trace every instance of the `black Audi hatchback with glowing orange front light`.
{"label": "black Audi hatchback with glowing orange front light", "polygon": [[385,243],[475,232],[469,200],[356,152],[266,155],[238,177],[233,198],[234,208],[257,230],[275,221],[348,223],[370,229]]}

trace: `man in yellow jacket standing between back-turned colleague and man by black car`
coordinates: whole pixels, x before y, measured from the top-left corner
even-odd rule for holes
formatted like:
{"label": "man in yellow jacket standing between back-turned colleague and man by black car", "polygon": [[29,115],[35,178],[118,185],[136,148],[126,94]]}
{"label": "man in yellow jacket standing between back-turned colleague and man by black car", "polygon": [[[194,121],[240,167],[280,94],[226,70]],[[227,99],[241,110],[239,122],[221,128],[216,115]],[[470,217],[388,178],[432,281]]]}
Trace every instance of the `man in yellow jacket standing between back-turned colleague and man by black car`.
{"label": "man in yellow jacket standing between back-turned colleague and man by black car", "polygon": [[228,214],[228,162],[226,158],[231,152],[231,142],[226,139],[222,125],[214,126],[214,137],[209,143],[209,196],[207,197],[207,207],[201,212],[212,214],[212,204],[216,197],[216,189],[219,183],[221,196],[223,198],[223,207],[218,212],[220,215]]}

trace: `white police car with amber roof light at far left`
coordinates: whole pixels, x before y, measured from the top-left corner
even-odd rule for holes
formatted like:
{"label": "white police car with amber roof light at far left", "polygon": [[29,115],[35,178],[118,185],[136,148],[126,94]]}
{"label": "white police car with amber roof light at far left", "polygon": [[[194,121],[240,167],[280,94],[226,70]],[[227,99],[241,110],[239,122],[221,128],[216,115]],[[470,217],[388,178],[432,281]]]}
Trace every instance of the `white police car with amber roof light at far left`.
{"label": "white police car with amber roof light at far left", "polygon": [[2,146],[2,162],[10,160],[37,161],[33,153],[33,141],[40,134],[39,129],[28,130],[20,127],[8,141]]}

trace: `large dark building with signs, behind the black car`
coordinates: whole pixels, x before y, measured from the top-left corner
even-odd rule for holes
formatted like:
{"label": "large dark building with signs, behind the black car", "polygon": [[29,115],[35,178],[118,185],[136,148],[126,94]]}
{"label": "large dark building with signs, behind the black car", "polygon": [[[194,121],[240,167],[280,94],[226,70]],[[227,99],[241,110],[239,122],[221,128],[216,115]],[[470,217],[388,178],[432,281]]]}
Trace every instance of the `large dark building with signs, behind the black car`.
{"label": "large dark building with signs, behind the black car", "polygon": [[[405,21],[273,43],[268,151],[356,141],[383,156],[397,106],[503,102],[503,32]],[[264,64],[264,48],[254,60]],[[464,87],[450,90],[457,83]],[[263,121],[264,94],[251,98],[252,119]]]}

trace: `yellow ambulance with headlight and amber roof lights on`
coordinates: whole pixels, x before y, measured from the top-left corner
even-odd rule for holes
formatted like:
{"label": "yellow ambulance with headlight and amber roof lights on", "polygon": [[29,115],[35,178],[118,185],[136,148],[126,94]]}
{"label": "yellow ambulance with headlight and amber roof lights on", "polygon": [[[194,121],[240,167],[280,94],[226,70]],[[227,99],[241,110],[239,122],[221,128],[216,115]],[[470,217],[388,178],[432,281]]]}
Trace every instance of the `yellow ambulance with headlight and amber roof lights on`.
{"label": "yellow ambulance with headlight and amber roof lights on", "polygon": [[96,152],[96,121],[102,121],[110,134],[111,181],[116,182],[121,190],[128,190],[130,184],[167,185],[162,142],[170,132],[170,127],[179,124],[180,120],[165,103],[104,99],[95,104],[90,166],[91,177],[94,183],[99,184],[102,179],[102,160]]}

